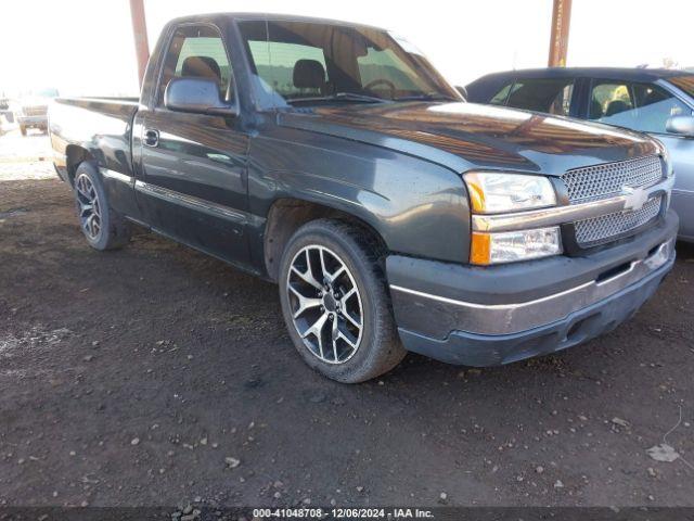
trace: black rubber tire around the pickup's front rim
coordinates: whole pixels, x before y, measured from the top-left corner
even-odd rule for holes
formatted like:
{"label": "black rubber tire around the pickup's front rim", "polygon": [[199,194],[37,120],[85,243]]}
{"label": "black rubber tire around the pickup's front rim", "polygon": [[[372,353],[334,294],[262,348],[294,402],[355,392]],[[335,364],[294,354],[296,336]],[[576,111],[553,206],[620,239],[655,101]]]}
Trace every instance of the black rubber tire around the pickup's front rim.
{"label": "black rubber tire around the pickup's front rim", "polygon": [[[311,246],[327,249],[336,254],[349,270],[349,280],[354,280],[358,289],[363,330],[361,341],[346,361],[330,364],[321,359],[305,344],[294,323],[287,279],[297,255]],[[407,353],[393,317],[383,258],[383,247],[370,230],[336,219],[320,219],[304,225],[284,250],[279,283],[282,314],[290,336],[304,360],[332,380],[359,383],[376,378],[397,366]]]}

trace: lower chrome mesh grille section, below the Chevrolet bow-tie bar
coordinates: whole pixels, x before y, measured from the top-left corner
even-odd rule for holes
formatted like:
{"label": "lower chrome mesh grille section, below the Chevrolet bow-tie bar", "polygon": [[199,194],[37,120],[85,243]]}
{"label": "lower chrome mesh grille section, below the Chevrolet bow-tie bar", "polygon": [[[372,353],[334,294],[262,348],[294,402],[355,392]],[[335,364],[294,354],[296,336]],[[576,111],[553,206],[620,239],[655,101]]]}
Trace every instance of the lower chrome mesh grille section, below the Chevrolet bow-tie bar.
{"label": "lower chrome mesh grille section, below the Chevrolet bow-tie bar", "polygon": [[589,246],[612,237],[634,230],[645,225],[660,213],[663,198],[652,198],[641,209],[634,212],[615,212],[575,223],[576,241],[581,246]]}

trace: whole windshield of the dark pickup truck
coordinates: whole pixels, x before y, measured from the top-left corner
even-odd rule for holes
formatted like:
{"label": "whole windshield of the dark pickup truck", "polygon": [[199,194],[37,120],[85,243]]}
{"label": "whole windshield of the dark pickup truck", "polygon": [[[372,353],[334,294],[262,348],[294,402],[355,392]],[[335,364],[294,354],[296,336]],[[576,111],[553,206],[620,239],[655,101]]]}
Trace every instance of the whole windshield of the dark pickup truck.
{"label": "whole windshield of the dark pickup truck", "polygon": [[259,98],[269,105],[462,100],[413,46],[387,31],[310,22],[239,25]]}

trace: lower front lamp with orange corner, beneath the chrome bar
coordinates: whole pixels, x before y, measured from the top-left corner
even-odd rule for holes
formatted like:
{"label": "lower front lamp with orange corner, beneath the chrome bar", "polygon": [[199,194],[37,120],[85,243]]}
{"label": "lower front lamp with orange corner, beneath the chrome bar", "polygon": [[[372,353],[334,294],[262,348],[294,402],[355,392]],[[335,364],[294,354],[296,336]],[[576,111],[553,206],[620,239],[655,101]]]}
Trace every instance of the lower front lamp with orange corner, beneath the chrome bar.
{"label": "lower front lamp with orange corner, beneath the chrome bar", "polygon": [[473,232],[470,260],[487,266],[558,255],[562,253],[561,237],[557,226],[499,233]]}

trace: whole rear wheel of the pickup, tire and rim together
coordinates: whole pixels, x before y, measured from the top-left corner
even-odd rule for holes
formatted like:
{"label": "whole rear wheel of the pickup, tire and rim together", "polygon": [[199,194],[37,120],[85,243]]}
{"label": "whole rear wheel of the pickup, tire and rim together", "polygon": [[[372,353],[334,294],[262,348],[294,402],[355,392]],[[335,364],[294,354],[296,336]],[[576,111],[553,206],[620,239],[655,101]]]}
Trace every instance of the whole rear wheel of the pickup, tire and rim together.
{"label": "whole rear wheel of the pickup, tire and rim together", "polygon": [[108,206],[97,168],[81,163],[75,173],[75,200],[79,224],[90,246],[115,250],[130,240],[130,224]]}

